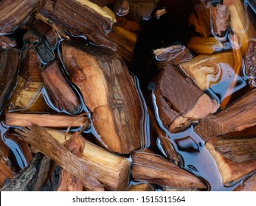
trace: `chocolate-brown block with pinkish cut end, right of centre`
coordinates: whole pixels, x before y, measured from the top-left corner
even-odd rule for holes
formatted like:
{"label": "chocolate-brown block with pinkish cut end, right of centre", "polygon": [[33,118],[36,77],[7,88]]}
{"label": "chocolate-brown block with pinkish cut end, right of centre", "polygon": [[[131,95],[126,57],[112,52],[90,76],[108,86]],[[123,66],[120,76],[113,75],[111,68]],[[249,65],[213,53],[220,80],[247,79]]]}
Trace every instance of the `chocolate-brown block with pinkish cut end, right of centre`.
{"label": "chocolate-brown block with pinkish cut end, right of centre", "polygon": [[193,85],[190,79],[182,76],[173,65],[166,65],[156,82],[159,117],[170,132],[186,129],[192,122],[197,122],[218,109],[215,100]]}

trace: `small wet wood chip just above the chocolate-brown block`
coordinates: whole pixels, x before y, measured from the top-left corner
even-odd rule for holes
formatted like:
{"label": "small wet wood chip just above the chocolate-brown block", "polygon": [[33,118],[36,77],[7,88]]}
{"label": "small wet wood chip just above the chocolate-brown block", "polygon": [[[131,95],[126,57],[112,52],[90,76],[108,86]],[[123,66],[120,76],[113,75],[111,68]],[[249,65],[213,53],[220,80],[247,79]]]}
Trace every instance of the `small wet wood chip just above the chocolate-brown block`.
{"label": "small wet wood chip just above the chocolate-brown block", "polygon": [[[190,50],[182,44],[175,44],[162,49],[156,49],[153,51],[156,60],[160,61],[160,64],[174,64],[179,65],[180,63],[189,61],[193,58]],[[160,67],[162,65],[159,65]]]}

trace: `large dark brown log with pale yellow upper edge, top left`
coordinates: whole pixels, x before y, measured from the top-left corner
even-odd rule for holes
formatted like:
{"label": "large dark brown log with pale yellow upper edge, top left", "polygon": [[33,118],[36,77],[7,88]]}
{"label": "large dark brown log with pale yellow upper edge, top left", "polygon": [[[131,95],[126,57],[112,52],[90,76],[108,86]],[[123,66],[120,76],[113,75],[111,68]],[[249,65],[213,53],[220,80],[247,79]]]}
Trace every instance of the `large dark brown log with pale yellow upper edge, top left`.
{"label": "large dark brown log with pale yellow upper edge, top left", "polygon": [[45,0],[40,13],[38,18],[52,25],[60,34],[69,31],[72,35],[84,35],[92,43],[117,51],[131,62],[136,35],[114,26],[116,18],[107,7],[101,8],[87,0]]}

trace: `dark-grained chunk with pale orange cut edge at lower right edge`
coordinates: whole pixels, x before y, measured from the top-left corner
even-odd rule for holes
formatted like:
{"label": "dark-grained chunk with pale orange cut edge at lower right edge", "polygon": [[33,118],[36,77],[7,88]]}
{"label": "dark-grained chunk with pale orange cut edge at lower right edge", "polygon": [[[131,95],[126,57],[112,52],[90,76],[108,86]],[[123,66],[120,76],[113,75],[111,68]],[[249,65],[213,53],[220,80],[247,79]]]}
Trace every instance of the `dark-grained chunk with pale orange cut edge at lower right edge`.
{"label": "dark-grained chunk with pale orange cut edge at lower right edge", "polygon": [[256,137],[215,137],[205,146],[215,158],[224,185],[256,169]]}

